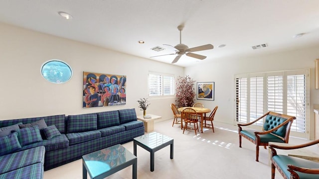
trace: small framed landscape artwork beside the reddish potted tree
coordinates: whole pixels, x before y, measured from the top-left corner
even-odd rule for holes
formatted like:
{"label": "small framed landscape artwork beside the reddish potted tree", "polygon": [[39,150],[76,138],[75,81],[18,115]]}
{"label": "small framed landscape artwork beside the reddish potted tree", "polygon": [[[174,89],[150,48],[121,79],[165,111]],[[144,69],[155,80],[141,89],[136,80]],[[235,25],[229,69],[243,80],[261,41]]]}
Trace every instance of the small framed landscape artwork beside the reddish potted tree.
{"label": "small framed landscape artwork beside the reddish potted tree", "polygon": [[198,82],[197,99],[214,100],[215,82]]}

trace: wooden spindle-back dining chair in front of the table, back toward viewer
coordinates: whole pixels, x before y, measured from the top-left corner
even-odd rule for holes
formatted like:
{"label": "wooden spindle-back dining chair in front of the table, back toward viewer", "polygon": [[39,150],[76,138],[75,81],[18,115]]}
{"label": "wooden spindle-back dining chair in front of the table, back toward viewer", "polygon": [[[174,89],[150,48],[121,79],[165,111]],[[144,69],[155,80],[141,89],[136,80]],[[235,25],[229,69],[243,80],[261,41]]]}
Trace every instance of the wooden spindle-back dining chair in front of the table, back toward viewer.
{"label": "wooden spindle-back dining chair in front of the table, back toward viewer", "polygon": [[[195,131],[195,135],[197,135],[196,130],[198,131],[198,119],[197,119],[197,112],[191,108],[185,108],[181,112],[182,120],[185,122],[183,134],[185,129],[193,129]],[[194,128],[190,128],[190,124],[194,124]],[[197,126],[197,127],[196,127]]]}

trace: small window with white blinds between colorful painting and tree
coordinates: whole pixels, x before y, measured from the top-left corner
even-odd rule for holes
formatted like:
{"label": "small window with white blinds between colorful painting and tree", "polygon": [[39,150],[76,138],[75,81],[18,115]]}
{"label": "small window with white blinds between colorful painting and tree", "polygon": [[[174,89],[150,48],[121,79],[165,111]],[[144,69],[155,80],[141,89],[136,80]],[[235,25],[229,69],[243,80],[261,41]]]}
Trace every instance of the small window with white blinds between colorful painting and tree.
{"label": "small window with white blinds between colorful painting and tree", "polygon": [[149,74],[149,96],[174,95],[174,77]]}

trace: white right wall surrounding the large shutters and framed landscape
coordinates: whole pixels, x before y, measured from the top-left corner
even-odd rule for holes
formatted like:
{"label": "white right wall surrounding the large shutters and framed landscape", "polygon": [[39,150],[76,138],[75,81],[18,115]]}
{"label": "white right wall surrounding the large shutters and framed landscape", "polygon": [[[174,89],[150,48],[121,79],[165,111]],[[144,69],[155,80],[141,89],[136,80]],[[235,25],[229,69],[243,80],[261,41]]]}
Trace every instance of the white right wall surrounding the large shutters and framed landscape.
{"label": "white right wall surrounding the large shutters and framed landscape", "polygon": [[319,59],[319,46],[302,50],[276,53],[256,57],[232,57],[217,59],[211,63],[201,63],[185,68],[197,82],[215,82],[215,100],[197,100],[205,107],[218,105],[215,120],[234,123],[234,75],[254,72],[271,72],[310,68],[310,124],[311,138],[314,136],[314,104],[319,103],[319,90],[315,89],[315,60]]}

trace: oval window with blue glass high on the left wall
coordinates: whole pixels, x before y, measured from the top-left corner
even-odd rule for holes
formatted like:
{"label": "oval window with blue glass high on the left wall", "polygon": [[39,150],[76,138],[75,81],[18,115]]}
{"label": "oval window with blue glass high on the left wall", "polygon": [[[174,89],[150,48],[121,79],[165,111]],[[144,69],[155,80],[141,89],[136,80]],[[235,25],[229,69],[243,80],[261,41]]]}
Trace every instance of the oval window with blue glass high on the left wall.
{"label": "oval window with blue glass high on the left wall", "polygon": [[47,81],[61,84],[71,79],[72,69],[63,61],[50,60],[42,65],[41,74]]}

